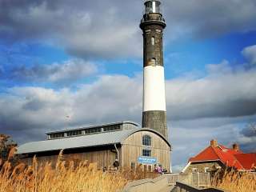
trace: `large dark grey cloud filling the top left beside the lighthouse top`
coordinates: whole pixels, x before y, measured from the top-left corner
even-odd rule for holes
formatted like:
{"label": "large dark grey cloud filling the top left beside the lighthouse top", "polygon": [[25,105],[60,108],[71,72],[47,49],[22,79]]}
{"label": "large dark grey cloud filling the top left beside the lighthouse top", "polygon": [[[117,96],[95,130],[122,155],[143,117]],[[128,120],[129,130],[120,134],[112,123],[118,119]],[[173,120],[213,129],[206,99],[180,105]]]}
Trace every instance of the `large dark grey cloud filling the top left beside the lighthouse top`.
{"label": "large dark grey cloud filling the top left beside the lighthouse top", "polygon": [[[2,37],[48,39],[82,58],[141,54],[139,2],[2,1],[0,7]],[[134,7],[138,7],[137,23]]]}

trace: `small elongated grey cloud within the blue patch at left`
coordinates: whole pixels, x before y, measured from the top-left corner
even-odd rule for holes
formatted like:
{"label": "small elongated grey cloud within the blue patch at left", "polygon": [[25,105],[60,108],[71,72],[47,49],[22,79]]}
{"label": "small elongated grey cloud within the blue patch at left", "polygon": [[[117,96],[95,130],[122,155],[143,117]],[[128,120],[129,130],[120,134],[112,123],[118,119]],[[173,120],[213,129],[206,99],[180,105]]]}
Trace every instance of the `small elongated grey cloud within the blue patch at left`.
{"label": "small elongated grey cloud within the blue patch at left", "polygon": [[[74,82],[97,72],[97,66],[91,62],[73,59],[50,65],[14,66],[6,77],[25,82]],[[1,76],[0,76],[1,79]]]}

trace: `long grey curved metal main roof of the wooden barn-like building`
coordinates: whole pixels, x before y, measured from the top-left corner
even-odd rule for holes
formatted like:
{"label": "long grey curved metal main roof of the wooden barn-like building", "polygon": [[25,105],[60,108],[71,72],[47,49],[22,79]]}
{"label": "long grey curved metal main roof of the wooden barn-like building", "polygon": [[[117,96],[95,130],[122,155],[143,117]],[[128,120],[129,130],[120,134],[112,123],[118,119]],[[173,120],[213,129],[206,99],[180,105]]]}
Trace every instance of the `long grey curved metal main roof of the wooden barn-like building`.
{"label": "long grey curved metal main roof of the wooden barn-like building", "polygon": [[158,134],[170,146],[170,143],[166,140],[166,138],[164,138],[162,134],[158,133],[158,131],[143,128],[106,132],[102,134],[90,134],[74,138],[60,138],[41,142],[28,142],[18,147],[17,154],[34,154],[38,152],[53,150],[86,148],[91,146],[106,146],[118,143],[122,144],[122,142],[124,142],[124,140],[128,138],[131,134],[143,130],[147,130],[153,132],[154,134]]}

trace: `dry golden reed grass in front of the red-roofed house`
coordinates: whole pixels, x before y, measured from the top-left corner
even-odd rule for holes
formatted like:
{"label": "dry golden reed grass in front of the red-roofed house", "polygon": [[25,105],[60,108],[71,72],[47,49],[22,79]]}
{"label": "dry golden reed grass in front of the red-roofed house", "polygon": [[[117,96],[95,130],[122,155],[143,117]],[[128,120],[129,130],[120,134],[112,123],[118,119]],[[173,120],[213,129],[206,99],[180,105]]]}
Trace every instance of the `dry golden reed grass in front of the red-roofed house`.
{"label": "dry golden reed grass in front of the red-roofed house", "polygon": [[213,186],[232,192],[255,192],[256,173],[225,170],[215,175]]}

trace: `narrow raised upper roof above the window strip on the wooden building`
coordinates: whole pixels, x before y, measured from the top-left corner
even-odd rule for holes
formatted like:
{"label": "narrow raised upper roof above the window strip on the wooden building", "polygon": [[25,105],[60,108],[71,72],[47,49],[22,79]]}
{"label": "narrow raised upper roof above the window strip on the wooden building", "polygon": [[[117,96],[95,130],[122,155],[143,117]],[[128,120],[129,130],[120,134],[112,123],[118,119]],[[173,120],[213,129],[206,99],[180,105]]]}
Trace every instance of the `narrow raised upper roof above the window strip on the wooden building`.
{"label": "narrow raised upper roof above the window strip on the wooden building", "polygon": [[105,124],[96,125],[96,126],[85,126],[85,127],[75,128],[75,129],[70,128],[70,129],[66,129],[66,130],[49,131],[49,132],[46,132],[46,134],[58,134],[58,133],[63,133],[63,132],[73,131],[73,130],[85,130],[85,129],[90,129],[90,128],[97,128],[97,127],[104,127],[104,126],[114,126],[114,125],[120,125],[120,124],[132,124],[134,126],[139,126],[138,123],[136,123],[136,122],[122,121],[122,122],[105,123]]}

